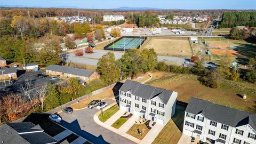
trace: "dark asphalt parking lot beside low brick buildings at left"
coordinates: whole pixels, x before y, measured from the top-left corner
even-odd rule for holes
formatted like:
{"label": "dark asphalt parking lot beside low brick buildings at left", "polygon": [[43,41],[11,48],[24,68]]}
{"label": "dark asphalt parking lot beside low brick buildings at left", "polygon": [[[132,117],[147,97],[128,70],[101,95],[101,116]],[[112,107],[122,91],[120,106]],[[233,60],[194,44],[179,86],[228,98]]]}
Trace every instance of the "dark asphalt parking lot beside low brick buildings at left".
{"label": "dark asphalt parking lot beside low brick buildings at left", "polygon": [[42,84],[46,83],[52,83],[55,84],[61,79],[52,79],[52,77],[37,77],[37,74],[42,74],[45,72],[45,69],[41,69],[39,71],[25,71],[25,70],[18,70],[17,69],[17,76],[18,79],[15,83],[9,83],[9,81],[6,81],[6,86],[4,85],[3,82],[0,83],[0,91],[1,94],[4,93],[10,93],[10,92],[19,92],[19,85],[20,84],[25,84],[26,82],[31,82],[31,89],[35,89],[39,87]]}

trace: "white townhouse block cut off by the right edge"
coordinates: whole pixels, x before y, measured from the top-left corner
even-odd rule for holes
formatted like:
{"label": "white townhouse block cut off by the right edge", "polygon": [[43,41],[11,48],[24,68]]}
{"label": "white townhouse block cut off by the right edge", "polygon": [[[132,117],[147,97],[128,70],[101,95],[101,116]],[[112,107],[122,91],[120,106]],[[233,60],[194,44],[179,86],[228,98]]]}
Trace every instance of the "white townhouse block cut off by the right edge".
{"label": "white townhouse block cut off by the right edge", "polygon": [[256,115],[190,98],[183,134],[207,143],[256,143]]}

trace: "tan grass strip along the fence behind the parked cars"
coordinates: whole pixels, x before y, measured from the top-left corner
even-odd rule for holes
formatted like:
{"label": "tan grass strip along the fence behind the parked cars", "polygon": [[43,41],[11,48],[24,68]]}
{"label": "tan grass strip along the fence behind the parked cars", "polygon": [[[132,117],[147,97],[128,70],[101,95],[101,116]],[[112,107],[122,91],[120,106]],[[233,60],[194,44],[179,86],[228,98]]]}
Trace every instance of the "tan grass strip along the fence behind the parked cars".
{"label": "tan grass strip along the fence behind the parked cars", "polygon": [[83,99],[79,102],[79,107],[77,105],[77,103],[74,103],[73,105],[71,105],[70,107],[72,107],[73,109],[80,109],[80,108],[85,108],[88,106],[88,104],[92,101],[92,100],[102,100],[104,98],[114,98],[114,92],[112,89],[109,89],[107,91],[101,92],[99,94],[94,95],[93,97],[89,97],[86,99]]}

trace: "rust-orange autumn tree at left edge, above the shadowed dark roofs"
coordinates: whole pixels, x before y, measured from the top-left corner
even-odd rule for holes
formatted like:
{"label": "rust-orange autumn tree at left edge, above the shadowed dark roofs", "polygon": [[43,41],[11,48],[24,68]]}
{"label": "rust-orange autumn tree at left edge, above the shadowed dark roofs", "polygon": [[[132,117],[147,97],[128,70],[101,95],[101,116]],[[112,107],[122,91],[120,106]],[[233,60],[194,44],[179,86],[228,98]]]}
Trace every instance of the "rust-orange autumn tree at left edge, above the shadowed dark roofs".
{"label": "rust-orange autumn tree at left edge, above the shadowed dark roofs", "polygon": [[1,100],[1,113],[5,114],[11,122],[26,116],[31,108],[31,103],[19,94],[9,94]]}

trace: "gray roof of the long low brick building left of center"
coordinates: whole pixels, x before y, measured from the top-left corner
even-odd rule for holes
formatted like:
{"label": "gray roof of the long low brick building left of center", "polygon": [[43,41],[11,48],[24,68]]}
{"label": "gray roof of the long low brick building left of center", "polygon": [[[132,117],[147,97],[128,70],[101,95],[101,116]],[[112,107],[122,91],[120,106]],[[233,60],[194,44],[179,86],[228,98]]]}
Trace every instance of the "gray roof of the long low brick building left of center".
{"label": "gray roof of the long low brick building left of center", "polygon": [[65,66],[59,66],[59,65],[50,65],[46,67],[46,70],[58,71],[61,73],[73,74],[73,75],[84,76],[84,77],[90,77],[94,73],[94,71],[91,71],[91,70],[71,68],[71,67],[65,67]]}

